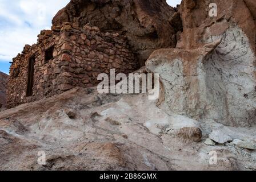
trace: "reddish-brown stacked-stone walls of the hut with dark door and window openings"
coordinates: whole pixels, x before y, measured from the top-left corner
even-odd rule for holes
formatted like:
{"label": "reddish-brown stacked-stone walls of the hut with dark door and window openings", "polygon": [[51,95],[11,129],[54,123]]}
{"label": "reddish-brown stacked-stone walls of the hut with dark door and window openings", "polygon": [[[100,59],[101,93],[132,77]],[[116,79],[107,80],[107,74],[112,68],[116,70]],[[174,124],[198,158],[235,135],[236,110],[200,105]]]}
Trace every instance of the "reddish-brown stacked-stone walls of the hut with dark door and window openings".
{"label": "reddish-brown stacked-stone walls of the hut with dark door and window openings", "polygon": [[[54,46],[53,59],[45,63],[45,51]],[[27,97],[29,60],[35,57],[33,95]],[[13,59],[7,84],[7,106],[41,100],[74,88],[98,84],[99,73],[130,73],[138,68],[125,37],[102,33],[97,27],[79,28],[64,23],[41,31],[38,42],[26,45]]]}

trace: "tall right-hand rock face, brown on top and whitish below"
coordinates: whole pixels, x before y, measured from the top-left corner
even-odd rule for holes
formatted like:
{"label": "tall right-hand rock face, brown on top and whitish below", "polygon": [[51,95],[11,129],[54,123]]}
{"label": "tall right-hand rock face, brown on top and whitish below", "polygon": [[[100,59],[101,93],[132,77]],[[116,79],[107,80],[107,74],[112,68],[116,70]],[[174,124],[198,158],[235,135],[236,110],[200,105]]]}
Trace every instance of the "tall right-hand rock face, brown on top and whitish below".
{"label": "tall right-hand rock face, brown on top and whitish below", "polygon": [[146,69],[160,74],[166,111],[254,126],[256,6],[252,1],[215,2],[217,17],[209,15],[210,1],[182,1],[177,48],[154,51]]}

